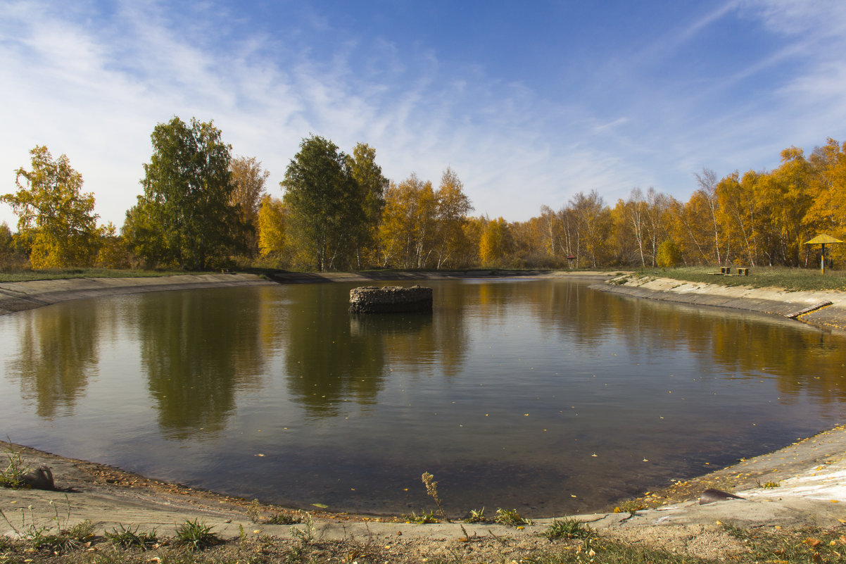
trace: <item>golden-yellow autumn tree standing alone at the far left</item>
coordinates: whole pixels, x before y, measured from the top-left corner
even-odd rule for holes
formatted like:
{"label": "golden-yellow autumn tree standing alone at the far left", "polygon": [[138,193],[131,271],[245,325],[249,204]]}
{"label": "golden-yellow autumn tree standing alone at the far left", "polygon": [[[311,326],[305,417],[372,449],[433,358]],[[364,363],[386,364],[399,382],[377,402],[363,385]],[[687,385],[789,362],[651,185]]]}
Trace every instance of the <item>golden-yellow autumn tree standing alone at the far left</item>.
{"label": "golden-yellow autumn tree standing alone at the far left", "polygon": [[0,196],[18,216],[19,235],[30,240],[32,268],[88,266],[96,257],[100,231],[94,195],[82,193],[82,174],[47,147],[30,151],[31,170],[16,171],[14,194]]}

